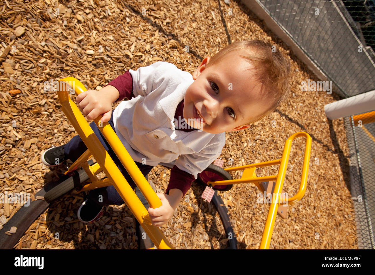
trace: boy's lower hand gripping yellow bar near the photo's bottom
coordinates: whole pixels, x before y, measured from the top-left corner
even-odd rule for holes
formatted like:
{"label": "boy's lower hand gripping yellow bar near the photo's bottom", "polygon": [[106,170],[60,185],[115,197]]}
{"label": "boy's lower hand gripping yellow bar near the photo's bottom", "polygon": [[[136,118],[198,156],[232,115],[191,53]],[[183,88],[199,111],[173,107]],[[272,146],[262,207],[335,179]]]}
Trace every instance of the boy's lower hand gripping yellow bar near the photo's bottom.
{"label": "boy's lower hand gripping yellow bar near the photo's bottom", "polygon": [[162,201],[162,205],[159,208],[149,207],[147,211],[150,215],[151,223],[154,226],[162,226],[168,223],[172,218],[179,201],[177,201],[176,205],[174,197],[164,193],[156,193],[156,195],[159,197],[160,201]]}

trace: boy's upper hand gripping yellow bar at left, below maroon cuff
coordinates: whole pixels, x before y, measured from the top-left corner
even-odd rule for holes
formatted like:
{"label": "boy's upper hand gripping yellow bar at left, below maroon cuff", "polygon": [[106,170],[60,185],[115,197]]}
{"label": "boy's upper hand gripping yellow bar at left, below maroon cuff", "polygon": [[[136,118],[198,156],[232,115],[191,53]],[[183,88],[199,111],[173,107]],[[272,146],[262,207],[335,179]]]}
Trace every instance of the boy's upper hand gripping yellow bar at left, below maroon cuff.
{"label": "boy's upper hand gripping yellow bar at left, below maroon cuff", "polygon": [[102,114],[102,122],[107,122],[111,119],[112,113],[112,98],[101,90],[87,90],[81,92],[75,101],[78,103],[82,114],[87,117],[88,120],[94,120],[99,114]]}

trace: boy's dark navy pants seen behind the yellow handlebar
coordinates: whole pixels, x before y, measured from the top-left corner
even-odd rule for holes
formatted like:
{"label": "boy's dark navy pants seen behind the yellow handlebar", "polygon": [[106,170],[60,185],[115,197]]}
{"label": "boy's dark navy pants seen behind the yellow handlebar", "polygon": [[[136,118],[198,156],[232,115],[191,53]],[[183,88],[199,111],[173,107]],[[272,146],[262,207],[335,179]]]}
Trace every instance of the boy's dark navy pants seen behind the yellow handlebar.
{"label": "boy's dark navy pants seen behind the yellow handlebar", "polygon": [[[113,125],[113,111],[111,114],[111,119],[108,121],[108,123],[110,123],[113,130],[115,131],[115,128]],[[136,187],[136,184],[134,183],[134,181],[132,180],[132,178],[130,177],[126,169],[124,168],[124,166],[121,164],[120,160],[117,158],[116,154],[113,152],[112,148],[110,147],[110,144],[108,144],[107,140],[105,140],[104,136],[102,135],[98,126],[95,125],[94,121],[90,123],[90,127],[93,129],[95,135],[98,137],[99,141],[104,146],[104,149],[107,150],[108,154],[111,156],[114,163],[117,165],[118,169],[124,175],[124,178],[126,178],[129,185],[134,189]],[[74,162],[86,150],[87,150],[87,147],[82,141],[81,137],[79,135],[76,135],[67,144],[65,144],[65,147],[64,147],[65,159],[70,159],[72,162]],[[138,166],[138,168],[141,170],[144,176],[146,176],[153,168],[153,166],[141,164],[139,162],[135,162],[135,164]],[[102,197],[103,202],[99,202],[99,195],[103,196]],[[104,205],[104,206],[111,205],[111,204],[121,205],[124,203],[120,194],[118,194],[118,192],[116,191],[113,185],[90,190],[90,193],[87,196],[87,199],[90,199],[93,202],[99,205]]]}

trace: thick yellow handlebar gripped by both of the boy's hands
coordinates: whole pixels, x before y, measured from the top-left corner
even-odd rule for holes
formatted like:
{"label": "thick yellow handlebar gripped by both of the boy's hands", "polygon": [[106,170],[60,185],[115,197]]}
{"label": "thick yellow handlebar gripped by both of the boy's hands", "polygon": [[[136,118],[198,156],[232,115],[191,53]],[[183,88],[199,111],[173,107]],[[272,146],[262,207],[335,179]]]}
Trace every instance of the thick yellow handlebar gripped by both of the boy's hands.
{"label": "thick yellow handlebar gripped by both of the boy's hands", "polygon": [[[138,199],[135,192],[130,187],[129,183],[127,183],[126,179],[121,174],[120,170],[115,165],[108,152],[104,149],[104,147],[94,134],[93,130],[91,129],[89,123],[87,123],[84,116],[81,114],[78,107],[70,99],[68,94],[69,86],[67,85],[72,84],[72,88],[75,89],[76,95],[86,91],[86,88],[80,81],[78,81],[74,77],[60,79],[59,82],[66,83],[66,85],[60,85],[59,83],[57,91],[58,98],[62,105],[62,110],[68,117],[69,121],[72,123],[78,134],[80,135],[82,141],[85,143],[85,145],[90,150],[96,161],[102,167],[103,171],[105,172],[109,180],[112,182],[113,186],[120,194],[121,198],[129,207],[130,211],[132,211],[135,218],[138,220],[139,224],[141,224],[141,226],[144,228],[145,232],[156,245],[156,247],[159,249],[172,248],[172,245],[165,238],[161,230],[158,227],[149,224],[150,220],[146,208]],[[102,115],[95,119],[95,122],[97,123],[96,125],[99,125],[100,118],[102,118]],[[160,199],[156,196],[155,192],[152,190],[151,186],[148,184],[147,180],[144,178],[141,171],[139,171],[138,166],[136,166],[136,164],[130,157],[129,153],[127,153],[125,147],[116,136],[112,127],[107,122],[99,126],[103,126],[99,127],[99,129],[103,133],[108,143],[110,143],[116,155],[119,156],[121,163],[132,176],[135,183],[138,185],[139,190],[142,191],[143,195],[148,201],[148,204],[152,208],[159,207],[161,205]]]}

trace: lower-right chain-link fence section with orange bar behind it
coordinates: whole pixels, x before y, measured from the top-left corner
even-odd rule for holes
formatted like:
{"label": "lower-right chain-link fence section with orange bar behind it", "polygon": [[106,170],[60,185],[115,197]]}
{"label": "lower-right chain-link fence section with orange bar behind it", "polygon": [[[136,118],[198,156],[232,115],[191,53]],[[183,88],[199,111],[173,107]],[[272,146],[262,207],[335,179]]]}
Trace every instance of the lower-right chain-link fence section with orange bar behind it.
{"label": "lower-right chain-link fence section with orange bar behind it", "polygon": [[[374,249],[375,111],[345,118],[358,248]],[[372,123],[371,123],[372,122]]]}

